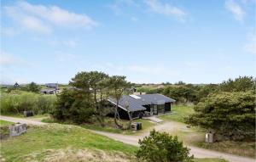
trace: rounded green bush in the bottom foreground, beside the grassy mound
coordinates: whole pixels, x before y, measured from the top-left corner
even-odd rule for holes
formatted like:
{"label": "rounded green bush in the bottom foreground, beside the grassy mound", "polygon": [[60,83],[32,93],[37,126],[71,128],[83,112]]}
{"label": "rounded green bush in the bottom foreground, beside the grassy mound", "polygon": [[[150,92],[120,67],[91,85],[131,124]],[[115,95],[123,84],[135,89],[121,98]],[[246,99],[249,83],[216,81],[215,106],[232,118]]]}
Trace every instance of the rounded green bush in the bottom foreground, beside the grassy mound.
{"label": "rounded green bush in the bottom foreground, beside the grassy mound", "polygon": [[148,162],[193,161],[189,156],[189,148],[183,147],[183,142],[177,141],[177,136],[172,137],[166,132],[150,131],[148,137],[139,140],[140,148],[137,158]]}

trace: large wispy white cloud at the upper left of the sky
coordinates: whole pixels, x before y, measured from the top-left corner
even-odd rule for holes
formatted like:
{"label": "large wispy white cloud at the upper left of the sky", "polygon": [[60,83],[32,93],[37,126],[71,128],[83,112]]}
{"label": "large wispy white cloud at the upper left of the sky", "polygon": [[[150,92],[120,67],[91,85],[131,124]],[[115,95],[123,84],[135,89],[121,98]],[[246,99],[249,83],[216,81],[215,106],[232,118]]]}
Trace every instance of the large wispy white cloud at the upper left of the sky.
{"label": "large wispy white cloud at the upper left of the sky", "polygon": [[53,27],[77,29],[97,25],[86,14],[75,14],[57,6],[34,5],[20,1],[5,6],[6,14],[27,30],[49,33]]}

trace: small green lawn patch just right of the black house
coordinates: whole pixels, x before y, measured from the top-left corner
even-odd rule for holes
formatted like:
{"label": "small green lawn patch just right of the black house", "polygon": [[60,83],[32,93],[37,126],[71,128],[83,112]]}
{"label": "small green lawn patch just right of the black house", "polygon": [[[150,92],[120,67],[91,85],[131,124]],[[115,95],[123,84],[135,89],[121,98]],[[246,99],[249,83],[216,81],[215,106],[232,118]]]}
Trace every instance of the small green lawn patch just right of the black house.
{"label": "small green lawn patch just right of the black house", "polygon": [[161,120],[172,120],[172,121],[184,122],[184,117],[192,115],[193,113],[194,113],[193,106],[173,105],[171,115],[162,115],[159,118]]}

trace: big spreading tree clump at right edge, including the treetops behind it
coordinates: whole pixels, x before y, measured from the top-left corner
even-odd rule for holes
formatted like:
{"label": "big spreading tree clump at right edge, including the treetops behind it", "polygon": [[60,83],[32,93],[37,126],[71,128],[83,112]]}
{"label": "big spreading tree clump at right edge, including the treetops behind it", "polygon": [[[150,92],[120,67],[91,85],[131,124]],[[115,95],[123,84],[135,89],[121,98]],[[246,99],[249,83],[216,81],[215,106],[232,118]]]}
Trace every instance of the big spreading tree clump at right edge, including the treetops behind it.
{"label": "big spreading tree clump at right edge, including the treetops behind it", "polygon": [[255,139],[255,79],[239,77],[209,85],[186,122],[216,133],[218,140]]}

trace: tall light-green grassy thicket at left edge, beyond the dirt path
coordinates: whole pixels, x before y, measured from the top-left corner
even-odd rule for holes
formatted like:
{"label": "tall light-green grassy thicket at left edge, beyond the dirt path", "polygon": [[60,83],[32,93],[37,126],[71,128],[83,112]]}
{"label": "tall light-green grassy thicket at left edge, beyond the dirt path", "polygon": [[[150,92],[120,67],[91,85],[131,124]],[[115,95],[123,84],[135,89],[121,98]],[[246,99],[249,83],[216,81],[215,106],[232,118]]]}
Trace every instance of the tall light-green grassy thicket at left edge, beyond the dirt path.
{"label": "tall light-green grassy thicket at left edge, beyond the dirt path", "polygon": [[44,114],[54,109],[55,100],[55,95],[34,92],[2,93],[0,108],[2,114],[21,114],[26,110],[33,110],[35,114]]}

